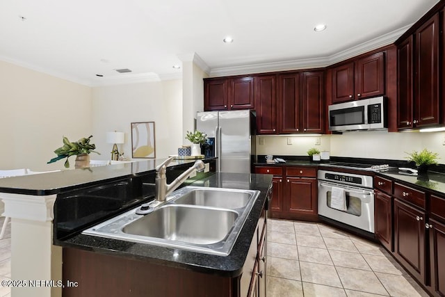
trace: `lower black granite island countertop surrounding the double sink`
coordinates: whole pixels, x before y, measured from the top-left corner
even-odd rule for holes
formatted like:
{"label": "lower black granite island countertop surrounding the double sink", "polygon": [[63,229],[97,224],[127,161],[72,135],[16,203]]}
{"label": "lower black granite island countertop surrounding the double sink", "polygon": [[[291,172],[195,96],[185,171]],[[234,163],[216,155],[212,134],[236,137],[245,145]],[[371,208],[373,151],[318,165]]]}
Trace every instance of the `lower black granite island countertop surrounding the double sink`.
{"label": "lower black granite island countertop surrounding the double sink", "polygon": [[250,242],[252,241],[252,236],[254,236],[261,211],[264,208],[266,195],[271,182],[272,175],[215,173],[191,184],[193,186],[251,189],[261,192],[241,229],[238,239],[236,239],[234,243],[232,252],[227,257],[155,246],[147,243],[105,239],[84,234],[78,234],[70,239],[55,241],[54,243],[58,246],[80,248],[106,255],[128,257],[129,259],[138,259],[163,266],[185,268],[224,277],[235,277],[242,272],[245,258],[248,255]]}

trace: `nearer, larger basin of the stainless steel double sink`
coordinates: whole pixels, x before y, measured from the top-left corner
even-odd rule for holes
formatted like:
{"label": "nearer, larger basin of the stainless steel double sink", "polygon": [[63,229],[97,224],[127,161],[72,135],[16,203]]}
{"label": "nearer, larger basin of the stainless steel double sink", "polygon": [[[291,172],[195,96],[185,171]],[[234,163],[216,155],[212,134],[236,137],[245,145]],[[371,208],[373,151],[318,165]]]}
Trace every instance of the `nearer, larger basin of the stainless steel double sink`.
{"label": "nearer, larger basin of the stainless steel double sink", "polygon": [[[122,228],[122,232],[194,244],[225,239],[238,213],[231,210],[166,205]],[[207,226],[211,225],[209,228]]]}

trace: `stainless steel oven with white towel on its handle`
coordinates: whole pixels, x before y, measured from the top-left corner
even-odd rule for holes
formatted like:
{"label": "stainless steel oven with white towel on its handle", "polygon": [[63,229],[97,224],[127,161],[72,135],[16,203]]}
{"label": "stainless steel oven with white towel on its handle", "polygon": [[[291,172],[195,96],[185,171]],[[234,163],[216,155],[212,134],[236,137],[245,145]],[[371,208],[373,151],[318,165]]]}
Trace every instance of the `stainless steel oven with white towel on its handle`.
{"label": "stainless steel oven with white towel on its handle", "polygon": [[[374,233],[373,177],[328,170],[318,170],[317,177],[319,216]],[[344,191],[346,210],[332,207],[334,188]]]}

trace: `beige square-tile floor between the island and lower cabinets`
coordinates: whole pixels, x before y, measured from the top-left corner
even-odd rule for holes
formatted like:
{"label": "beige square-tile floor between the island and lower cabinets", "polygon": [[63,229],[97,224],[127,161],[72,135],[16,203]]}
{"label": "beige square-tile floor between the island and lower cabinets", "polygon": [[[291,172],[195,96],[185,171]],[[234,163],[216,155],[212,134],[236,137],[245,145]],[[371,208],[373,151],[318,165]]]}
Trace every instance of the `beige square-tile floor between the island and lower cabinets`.
{"label": "beige square-tile floor between the island and lower cabinets", "polygon": [[268,296],[428,296],[377,243],[322,223],[268,220]]}

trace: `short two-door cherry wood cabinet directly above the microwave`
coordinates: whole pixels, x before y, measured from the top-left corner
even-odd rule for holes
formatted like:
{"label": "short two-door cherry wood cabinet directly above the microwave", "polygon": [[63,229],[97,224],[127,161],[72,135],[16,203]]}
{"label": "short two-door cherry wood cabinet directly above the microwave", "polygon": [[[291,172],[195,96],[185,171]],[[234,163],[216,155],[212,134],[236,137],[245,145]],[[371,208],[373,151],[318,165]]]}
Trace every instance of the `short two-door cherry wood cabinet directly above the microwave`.
{"label": "short two-door cherry wood cabinet directly above the microwave", "polygon": [[385,51],[332,68],[332,103],[385,94]]}

